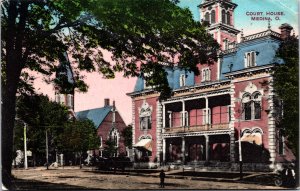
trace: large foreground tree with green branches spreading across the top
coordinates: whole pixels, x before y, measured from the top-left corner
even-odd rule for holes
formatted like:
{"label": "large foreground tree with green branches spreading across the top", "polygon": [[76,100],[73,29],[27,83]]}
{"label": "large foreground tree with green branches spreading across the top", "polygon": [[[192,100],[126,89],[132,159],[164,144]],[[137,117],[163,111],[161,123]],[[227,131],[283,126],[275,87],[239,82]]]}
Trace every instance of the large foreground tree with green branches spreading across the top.
{"label": "large foreground tree with green branches spreading across the top", "polygon": [[[2,177],[10,186],[16,93],[26,71],[50,81],[56,60],[68,52],[76,61],[75,88],[86,91],[79,71],[143,76],[143,67],[179,59],[195,70],[197,63],[216,58],[218,46],[188,9],[168,0],[49,0],[2,2]],[[114,63],[103,58],[110,51]],[[147,67],[145,67],[147,68]],[[165,77],[165,73],[163,77]],[[154,75],[155,76],[155,75]],[[31,81],[32,78],[29,78]],[[154,80],[155,81],[155,80]],[[163,82],[166,82],[164,80]],[[31,86],[23,86],[32,88]],[[84,87],[84,88],[82,88]],[[156,86],[161,87],[159,84]],[[166,89],[163,85],[163,89]],[[27,91],[27,90],[26,90]],[[164,94],[163,94],[164,95]]]}

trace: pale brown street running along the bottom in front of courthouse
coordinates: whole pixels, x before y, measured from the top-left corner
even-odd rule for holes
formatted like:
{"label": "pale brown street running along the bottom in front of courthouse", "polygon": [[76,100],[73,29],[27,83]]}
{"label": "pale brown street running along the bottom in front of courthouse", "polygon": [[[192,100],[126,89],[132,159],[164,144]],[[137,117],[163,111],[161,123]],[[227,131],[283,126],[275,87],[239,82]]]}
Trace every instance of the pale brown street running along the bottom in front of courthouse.
{"label": "pale brown street running along the bottom in front of courthouse", "polygon": [[[68,167],[46,170],[44,167],[13,170],[16,190],[62,190],[62,189],[160,189],[157,173],[126,174],[99,172],[92,168]],[[257,182],[226,182],[215,180],[192,180],[191,177],[175,178],[168,175],[164,189],[282,189]]]}

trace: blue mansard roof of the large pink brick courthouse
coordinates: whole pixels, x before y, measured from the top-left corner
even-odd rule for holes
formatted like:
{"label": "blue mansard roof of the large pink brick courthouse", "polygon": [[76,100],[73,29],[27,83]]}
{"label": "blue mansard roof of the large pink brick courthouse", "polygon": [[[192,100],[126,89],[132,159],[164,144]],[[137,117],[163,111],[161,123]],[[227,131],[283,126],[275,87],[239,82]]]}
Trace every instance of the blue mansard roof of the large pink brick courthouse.
{"label": "blue mansard roof of the large pink brick courthouse", "polygon": [[[280,34],[272,31],[270,28],[266,31],[255,33],[243,37],[240,43],[232,49],[223,51],[220,53],[220,76],[216,82],[226,81],[231,75],[243,72],[244,70],[256,70],[255,68],[264,68],[264,66],[270,66],[274,63],[282,64],[283,60],[276,57],[276,51],[280,45]],[[245,54],[247,52],[256,52],[256,66],[246,68],[245,66]],[[193,88],[199,84],[195,84],[195,74],[193,72],[187,72],[180,69],[177,66],[166,65],[165,70],[167,72],[167,78],[170,88],[175,91],[181,91],[181,89]],[[184,87],[180,87],[180,75],[186,75],[186,84]],[[206,86],[206,83],[201,83]],[[152,89],[144,88],[144,79],[142,77],[137,79],[134,94],[139,93],[153,93]],[[133,94],[128,94],[133,95]]]}

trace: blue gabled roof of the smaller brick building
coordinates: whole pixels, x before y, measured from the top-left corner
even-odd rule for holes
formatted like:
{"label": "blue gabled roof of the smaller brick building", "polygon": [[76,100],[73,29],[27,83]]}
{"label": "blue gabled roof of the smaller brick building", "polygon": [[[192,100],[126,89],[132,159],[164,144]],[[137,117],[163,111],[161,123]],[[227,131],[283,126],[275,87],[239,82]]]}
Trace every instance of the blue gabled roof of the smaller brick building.
{"label": "blue gabled roof of the smaller brick building", "polygon": [[96,128],[103,122],[107,114],[111,111],[112,106],[106,106],[102,108],[89,109],[84,111],[76,112],[76,119],[84,120],[89,119],[93,121]]}

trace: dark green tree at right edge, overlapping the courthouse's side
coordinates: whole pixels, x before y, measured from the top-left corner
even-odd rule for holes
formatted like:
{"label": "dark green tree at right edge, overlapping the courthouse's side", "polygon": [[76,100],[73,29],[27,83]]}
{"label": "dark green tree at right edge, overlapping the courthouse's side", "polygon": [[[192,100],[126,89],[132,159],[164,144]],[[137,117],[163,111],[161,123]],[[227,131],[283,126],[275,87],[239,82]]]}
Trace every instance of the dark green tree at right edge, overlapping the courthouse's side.
{"label": "dark green tree at right edge, overlapping the courthouse's side", "polygon": [[283,101],[280,127],[288,137],[289,147],[299,155],[299,40],[291,36],[283,41],[277,51],[284,64],[276,65],[274,90]]}

